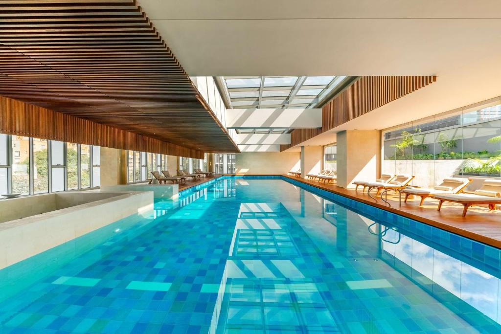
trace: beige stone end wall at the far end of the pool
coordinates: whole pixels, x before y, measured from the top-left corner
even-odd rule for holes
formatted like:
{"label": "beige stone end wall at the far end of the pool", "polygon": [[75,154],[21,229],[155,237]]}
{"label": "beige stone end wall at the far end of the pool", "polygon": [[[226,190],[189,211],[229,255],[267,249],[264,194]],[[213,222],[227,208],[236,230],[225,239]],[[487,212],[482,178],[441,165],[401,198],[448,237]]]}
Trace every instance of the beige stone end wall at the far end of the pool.
{"label": "beige stone end wall at the far end of the pool", "polygon": [[242,152],[235,156],[236,175],[281,175],[299,166],[300,152]]}

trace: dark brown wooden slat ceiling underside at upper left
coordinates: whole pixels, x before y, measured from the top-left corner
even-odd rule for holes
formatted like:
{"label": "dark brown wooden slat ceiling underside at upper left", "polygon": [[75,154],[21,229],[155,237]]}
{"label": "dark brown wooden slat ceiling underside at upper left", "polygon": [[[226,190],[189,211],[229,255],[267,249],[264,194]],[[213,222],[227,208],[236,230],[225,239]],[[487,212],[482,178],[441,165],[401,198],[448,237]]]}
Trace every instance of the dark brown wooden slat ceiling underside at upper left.
{"label": "dark brown wooden slat ceiling underside at upper left", "polygon": [[132,0],[0,1],[0,95],[205,152],[238,152]]}

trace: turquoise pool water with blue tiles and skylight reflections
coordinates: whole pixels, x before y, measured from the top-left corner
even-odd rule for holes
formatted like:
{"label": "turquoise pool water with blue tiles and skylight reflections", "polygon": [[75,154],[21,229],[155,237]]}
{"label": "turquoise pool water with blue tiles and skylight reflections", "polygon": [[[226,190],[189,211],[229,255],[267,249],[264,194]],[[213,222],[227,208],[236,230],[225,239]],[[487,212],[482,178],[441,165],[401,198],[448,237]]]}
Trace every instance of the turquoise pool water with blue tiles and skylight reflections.
{"label": "turquoise pool water with blue tiles and skylight reflections", "polygon": [[0,270],[0,332],[501,331],[498,249],[331,197],[221,178],[157,202]]}

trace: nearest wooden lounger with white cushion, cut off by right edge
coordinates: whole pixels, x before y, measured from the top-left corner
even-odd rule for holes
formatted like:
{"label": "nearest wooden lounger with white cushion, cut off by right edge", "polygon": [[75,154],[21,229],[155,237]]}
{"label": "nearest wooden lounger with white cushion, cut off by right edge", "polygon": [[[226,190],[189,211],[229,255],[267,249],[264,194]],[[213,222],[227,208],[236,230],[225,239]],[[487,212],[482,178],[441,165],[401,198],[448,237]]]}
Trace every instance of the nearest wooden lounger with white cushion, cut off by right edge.
{"label": "nearest wooden lounger with white cushion, cut off by right edge", "polygon": [[496,204],[501,204],[501,180],[483,181],[482,187],[475,190],[473,194],[451,194],[451,195],[435,195],[438,203],[437,210],[440,211],[443,202],[459,203],[463,205],[463,214],[466,216],[468,208],[472,205],[487,204],[490,210],[495,209]]}

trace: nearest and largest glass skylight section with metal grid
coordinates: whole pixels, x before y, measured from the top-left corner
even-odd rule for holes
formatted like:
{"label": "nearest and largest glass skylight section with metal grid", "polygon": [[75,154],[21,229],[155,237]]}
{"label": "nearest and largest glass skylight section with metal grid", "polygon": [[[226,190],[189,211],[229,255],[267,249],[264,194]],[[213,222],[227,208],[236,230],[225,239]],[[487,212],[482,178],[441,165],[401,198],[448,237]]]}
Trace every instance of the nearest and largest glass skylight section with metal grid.
{"label": "nearest and largest glass skylight section with metal grid", "polygon": [[222,77],[221,81],[232,108],[315,108],[346,78]]}

